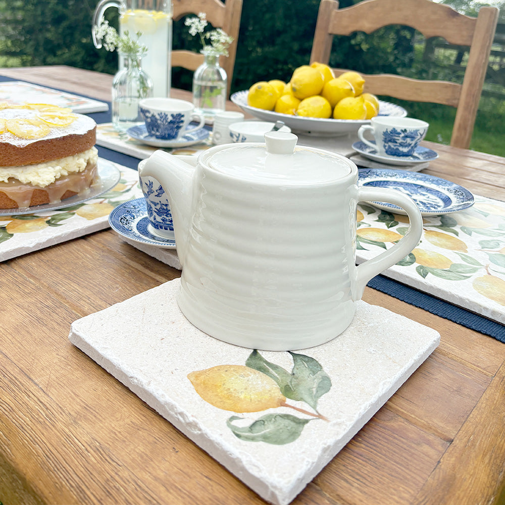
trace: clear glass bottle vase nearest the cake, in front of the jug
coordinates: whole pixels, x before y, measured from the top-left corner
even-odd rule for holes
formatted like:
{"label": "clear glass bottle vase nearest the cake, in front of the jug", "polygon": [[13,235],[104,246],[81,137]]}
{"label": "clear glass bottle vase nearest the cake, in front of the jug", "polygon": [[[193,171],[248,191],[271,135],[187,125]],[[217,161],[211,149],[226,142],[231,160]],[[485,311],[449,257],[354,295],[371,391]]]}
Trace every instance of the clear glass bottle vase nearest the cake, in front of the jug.
{"label": "clear glass bottle vase nearest the cake, in front of the jug", "polygon": [[153,96],[153,81],[140,66],[140,57],[122,55],[124,67],[112,81],[112,126],[120,133],[143,123],[138,104]]}

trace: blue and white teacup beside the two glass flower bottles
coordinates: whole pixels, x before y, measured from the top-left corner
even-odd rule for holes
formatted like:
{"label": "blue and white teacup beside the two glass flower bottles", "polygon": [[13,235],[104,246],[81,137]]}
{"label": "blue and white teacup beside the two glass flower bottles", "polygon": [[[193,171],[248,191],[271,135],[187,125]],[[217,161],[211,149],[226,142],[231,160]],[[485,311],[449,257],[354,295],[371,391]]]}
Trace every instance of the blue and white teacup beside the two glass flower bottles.
{"label": "blue and white teacup beside the two glass flower bottles", "polygon": [[[161,140],[178,140],[183,135],[205,126],[203,114],[194,112],[194,105],[178,98],[144,98],[139,103],[147,133]],[[190,121],[199,121],[198,126],[187,128]]]}

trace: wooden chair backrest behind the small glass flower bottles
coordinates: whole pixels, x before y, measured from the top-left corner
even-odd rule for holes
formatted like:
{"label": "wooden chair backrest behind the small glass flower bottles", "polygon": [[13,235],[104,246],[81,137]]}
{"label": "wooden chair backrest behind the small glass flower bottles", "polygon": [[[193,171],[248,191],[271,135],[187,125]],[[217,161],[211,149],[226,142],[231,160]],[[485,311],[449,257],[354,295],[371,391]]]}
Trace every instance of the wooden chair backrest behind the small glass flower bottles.
{"label": "wooden chair backrest behind the small glass flower bottles", "polygon": [[[228,76],[227,94],[230,94],[235,56],[237,53],[238,32],[240,29],[240,16],[242,14],[242,0],[173,0],[173,19],[179,20],[188,14],[205,12],[207,21],[214,28],[222,28],[228,35],[233,37],[233,42],[228,49],[228,56],[222,56],[219,64]],[[196,70],[204,62],[204,56],[199,53],[178,49],[172,51],[172,67],[182,67],[188,70]]]}

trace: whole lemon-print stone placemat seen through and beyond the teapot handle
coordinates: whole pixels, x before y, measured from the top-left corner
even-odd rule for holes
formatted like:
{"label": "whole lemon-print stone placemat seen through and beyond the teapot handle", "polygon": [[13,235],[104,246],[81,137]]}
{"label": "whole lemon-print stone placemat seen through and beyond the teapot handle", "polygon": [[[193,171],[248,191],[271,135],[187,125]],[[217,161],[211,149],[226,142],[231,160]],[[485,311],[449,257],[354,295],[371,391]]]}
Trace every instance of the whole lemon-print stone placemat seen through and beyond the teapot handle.
{"label": "whole lemon-print stone placemat seen through and beyond the teapot handle", "polygon": [[[468,209],[423,217],[418,246],[383,275],[505,325],[505,203],[474,196]],[[357,262],[389,249],[408,226],[406,216],[359,204]]]}

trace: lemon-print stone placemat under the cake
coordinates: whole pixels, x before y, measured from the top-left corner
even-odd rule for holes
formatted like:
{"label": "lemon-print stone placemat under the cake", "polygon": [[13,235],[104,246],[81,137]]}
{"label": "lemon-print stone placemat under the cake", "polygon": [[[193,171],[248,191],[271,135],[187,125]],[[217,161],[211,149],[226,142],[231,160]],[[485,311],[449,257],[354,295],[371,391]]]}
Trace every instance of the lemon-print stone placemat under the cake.
{"label": "lemon-print stone placemat under the cake", "polygon": [[109,214],[125,201],[139,198],[138,172],[115,165],[119,183],[107,193],[60,210],[0,216],[0,261],[10,260],[109,227]]}

